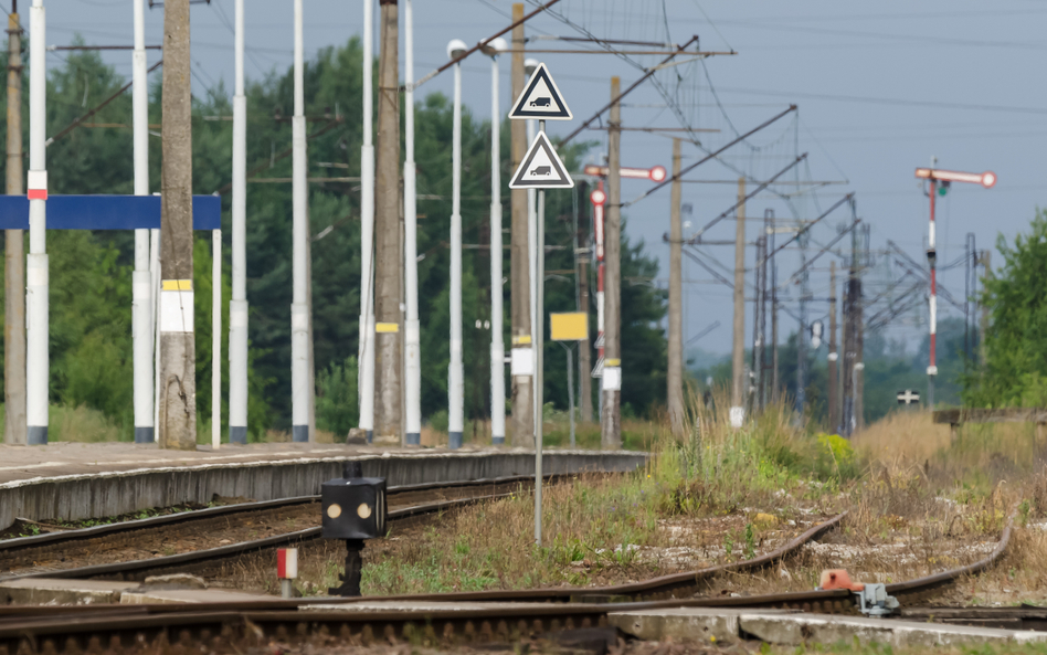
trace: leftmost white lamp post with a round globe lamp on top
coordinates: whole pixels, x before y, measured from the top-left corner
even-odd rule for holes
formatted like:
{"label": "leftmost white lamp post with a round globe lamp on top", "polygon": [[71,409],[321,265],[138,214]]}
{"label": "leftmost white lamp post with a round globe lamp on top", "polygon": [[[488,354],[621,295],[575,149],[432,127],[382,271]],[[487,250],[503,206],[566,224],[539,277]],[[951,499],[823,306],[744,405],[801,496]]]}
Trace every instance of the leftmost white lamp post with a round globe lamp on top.
{"label": "leftmost white lamp post with a round globe lamp on top", "polygon": [[[464,41],[447,44],[454,59],[466,50]],[[454,65],[454,123],[451,146],[451,363],[447,369],[447,437],[451,448],[462,447],[465,429],[465,369],[462,362],[462,64]]]}

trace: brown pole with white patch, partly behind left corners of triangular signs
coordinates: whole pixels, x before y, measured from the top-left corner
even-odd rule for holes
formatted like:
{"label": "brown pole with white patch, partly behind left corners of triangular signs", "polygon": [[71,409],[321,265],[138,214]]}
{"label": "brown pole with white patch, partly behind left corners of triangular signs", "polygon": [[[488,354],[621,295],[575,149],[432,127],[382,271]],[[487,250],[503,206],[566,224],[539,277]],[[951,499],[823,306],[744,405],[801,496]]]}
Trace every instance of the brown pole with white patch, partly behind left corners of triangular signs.
{"label": "brown pole with white patch, partly behind left corners of triangular signs", "polygon": [[[512,6],[512,21],[524,20],[524,4]],[[512,98],[524,93],[524,23],[512,28]],[[527,155],[527,122],[510,120],[510,156],[516,170]],[[532,399],[533,371],[531,362],[531,281],[528,263],[527,191],[512,189],[510,193],[512,216],[510,219],[511,250],[509,251],[509,302],[512,323],[512,423],[510,443],[514,446],[535,445],[535,401]]]}

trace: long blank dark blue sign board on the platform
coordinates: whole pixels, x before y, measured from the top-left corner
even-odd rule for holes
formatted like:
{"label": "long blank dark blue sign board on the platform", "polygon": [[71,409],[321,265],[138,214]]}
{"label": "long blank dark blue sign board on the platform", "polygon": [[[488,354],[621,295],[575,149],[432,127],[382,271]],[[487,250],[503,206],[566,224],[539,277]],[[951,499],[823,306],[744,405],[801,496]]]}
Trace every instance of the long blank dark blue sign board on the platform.
{"label": "long blank dark blue sign board on the platform", "polygon": [[[193,230],[222,226],[222,199],[192,197]],[[47,230],[159,230],[159,196],[51,196]],[[29,230],[29,199],[0,196],[0,230]]]}

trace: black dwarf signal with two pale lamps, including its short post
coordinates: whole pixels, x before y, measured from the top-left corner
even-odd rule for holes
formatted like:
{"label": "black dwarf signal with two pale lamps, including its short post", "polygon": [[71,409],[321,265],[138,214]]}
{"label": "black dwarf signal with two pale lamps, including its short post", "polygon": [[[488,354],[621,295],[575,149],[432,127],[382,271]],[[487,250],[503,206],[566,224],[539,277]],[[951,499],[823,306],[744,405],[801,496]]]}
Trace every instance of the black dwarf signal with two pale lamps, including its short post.
{"label": "black dwarf signal with two pale lamps, including its short post", "polygon": [[360,595],[361,551],[366,539],[385,536],[385,478],[363,477],[359,462],[348,462],[342,477],[320,486],[325,539],[346,541],[346,572],[341,585],[328,589],[331,595]]}

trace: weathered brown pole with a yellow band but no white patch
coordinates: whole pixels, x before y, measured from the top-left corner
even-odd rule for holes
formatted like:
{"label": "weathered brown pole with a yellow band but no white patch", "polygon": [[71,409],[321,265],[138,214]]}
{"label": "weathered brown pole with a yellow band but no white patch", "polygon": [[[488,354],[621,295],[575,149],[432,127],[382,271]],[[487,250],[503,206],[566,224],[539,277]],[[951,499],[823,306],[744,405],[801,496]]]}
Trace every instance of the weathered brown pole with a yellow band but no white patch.
{"label": "weathered brown pole with a yellow band but no white patch", "polygon": [[374,186],[374,441],[400,443],[400,78],[399,7],[380,0]]}

